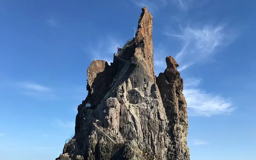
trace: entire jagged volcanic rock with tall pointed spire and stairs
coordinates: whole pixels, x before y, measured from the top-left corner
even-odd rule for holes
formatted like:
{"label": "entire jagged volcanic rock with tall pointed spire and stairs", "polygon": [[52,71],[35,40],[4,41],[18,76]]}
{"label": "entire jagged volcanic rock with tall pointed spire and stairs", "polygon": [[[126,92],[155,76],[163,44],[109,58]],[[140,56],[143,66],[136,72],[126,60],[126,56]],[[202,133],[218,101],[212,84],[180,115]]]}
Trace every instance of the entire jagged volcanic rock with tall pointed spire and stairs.
{"label": "entire jagged volcanic rock with tall pointed spire and stairs", "polygon": [[76,134],[56,160],[190,159],[179,65],[167,57],[164,73],[155,76],[152,20],[142,8],[135,38],[118,48],[113,63],[92,61]]}

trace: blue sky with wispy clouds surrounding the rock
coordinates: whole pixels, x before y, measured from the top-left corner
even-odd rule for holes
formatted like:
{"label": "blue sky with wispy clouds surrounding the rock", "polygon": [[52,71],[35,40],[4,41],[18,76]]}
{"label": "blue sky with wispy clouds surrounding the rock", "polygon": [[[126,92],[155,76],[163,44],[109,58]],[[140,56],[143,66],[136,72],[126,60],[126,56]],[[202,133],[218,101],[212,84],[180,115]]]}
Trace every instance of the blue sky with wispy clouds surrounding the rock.
{"label": "blue sky with wispy clouds surrounding the rock", "polygon": [[1,0],[3,159],[59,156],[87,95],[90,62],[113,59],[145,5],[153,15],[156,73],[166,56],[180,64],[191,160],[256,156],[255,1]]}

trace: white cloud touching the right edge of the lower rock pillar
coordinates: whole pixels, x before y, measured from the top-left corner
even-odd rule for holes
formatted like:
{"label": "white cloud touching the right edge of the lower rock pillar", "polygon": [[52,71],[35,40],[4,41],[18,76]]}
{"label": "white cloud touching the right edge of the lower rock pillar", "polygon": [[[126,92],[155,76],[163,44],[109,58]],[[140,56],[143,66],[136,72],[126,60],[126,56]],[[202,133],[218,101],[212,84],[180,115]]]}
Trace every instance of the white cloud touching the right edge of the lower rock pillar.
{"label": "white cloud touching the right edge of the lower rock pillar", "polygon": [[201,79],[184,80],[183,94],[187,101],[189,116],[213,116],[231,113],[235,107],[232,102],[214,93],[207,93],[197,86]]}

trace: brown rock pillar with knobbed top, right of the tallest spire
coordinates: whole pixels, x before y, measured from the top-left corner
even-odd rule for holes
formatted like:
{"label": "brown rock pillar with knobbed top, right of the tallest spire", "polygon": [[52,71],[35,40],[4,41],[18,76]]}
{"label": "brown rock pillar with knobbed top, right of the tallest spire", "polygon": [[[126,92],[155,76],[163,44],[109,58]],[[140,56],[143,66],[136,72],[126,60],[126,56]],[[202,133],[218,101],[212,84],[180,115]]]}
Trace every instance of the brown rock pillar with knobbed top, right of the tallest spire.
{"label": "brown rock pillar with knobbed top, right of the tallest spire", "polygon": [[187,147],[188,112],[187,102],[182,94],[183,79],[177,70],[179,66],[173,57],[166,57],[167,68],[156,78],[156,84],[161,93],[166,116],[169,120],[168,134],[171,145],[168,147],[168,156],[172,160],[189,160]]}

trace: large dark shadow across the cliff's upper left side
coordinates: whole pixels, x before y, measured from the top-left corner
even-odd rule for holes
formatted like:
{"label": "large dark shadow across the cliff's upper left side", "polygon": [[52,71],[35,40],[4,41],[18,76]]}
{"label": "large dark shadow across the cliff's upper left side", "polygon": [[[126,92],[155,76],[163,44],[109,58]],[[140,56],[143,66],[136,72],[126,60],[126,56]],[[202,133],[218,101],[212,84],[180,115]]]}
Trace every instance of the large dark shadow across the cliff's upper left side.
{"label": "large dark shadow across the cliff's upper left side", "polygon": [[[135,67],[136,65],[132,64],[131,62],[129,62],[129,64],[127,63],[124,64],[122,61],[116,60],[111,66],[108,65],[108,62],[105,62],[104,71],[97,73],[96,77],[92,82],[92,85],[90,86],[87,82],[86,89],[88,91],[88,95],[86,99],[82,102],[82,104],[78,106],[78,109],[77,109],[78,114],[76,115],[76,126],[75,126],[76,133],[81,132],[80,131],[80,122],[81,122],[80,112],[81,112],[81,109],[85,106],[85,104],[91,103],[90,112],[96,118],[96,114],[97,114],[96,108],[100,104],[104,96],[107,94],[107,92],[111,91],[110,97],[115,97],[116,88],[129,78],[129,76],[134,71]],[[117,70],[117,68],[119,69]],[[95,70],[96,69],[97,68],[95,68]],[[113,78],[115,76],[119,76],[119,78],[115,82],[113,82]],[[111,84],[114,86],[111,86]],[[87,111],[85,110],[85,113],[84,113],[85,115],[86,115],[86,112]]]}

